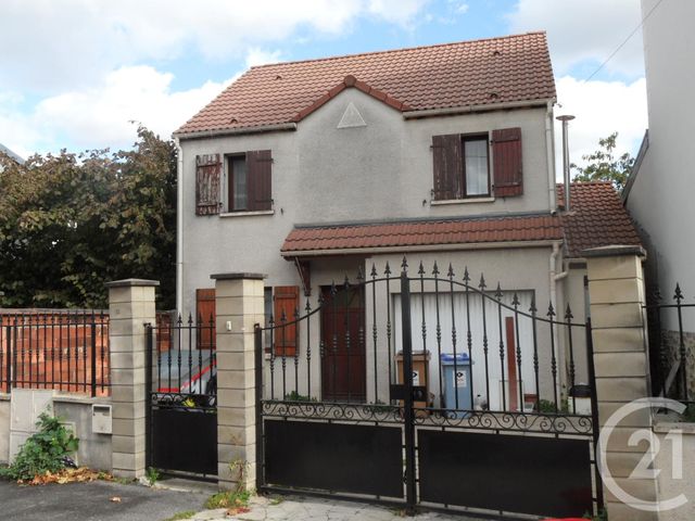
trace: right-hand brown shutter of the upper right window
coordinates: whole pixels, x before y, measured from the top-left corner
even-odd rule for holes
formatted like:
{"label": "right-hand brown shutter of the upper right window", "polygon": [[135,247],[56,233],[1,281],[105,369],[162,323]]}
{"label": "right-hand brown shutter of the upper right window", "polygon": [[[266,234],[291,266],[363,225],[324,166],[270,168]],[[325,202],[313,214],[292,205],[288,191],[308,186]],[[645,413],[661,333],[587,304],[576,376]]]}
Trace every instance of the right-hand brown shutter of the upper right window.
{"label": "right-hand brown shutter of the upper right window", "polygon": [[510,198],[523,193],[521,168],[521,129],[502,128],[492,131],[494,195]]}

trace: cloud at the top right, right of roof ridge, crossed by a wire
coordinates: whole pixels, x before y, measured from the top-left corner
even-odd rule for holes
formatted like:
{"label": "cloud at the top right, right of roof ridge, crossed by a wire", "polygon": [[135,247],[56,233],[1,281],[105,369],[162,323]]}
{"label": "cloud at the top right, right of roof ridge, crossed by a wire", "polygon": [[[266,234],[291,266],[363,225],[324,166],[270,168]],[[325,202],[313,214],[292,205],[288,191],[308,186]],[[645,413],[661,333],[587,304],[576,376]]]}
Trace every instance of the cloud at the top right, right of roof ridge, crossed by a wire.
{"label": "cloud at the top right, right of roof ridge, crossed by a wire", "polygon": [[[555,74],[564,75],[585,61],[603,63],[637,27],[641,11],[637,0],[519,0],[508,18],[515,33],[547,31]],[[641,31],[606,64],[606,71],[632,77],[644,74]]]}

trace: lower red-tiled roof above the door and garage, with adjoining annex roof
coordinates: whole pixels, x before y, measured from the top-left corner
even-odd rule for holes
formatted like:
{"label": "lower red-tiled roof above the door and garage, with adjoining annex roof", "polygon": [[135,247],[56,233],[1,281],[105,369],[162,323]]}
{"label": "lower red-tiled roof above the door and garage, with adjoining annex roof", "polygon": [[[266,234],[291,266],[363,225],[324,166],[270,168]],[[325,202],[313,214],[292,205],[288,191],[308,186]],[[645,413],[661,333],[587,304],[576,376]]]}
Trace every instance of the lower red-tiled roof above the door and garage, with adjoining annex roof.
{"label": "lower red-tiled roof above the door and garage, with adjoining annex roof", "polygon": [[[564,187],[557,187],[563,201]],[[590,247],[641,245],[618,192],[609,182],[572,183],[569,214],[482,217],[442,220],[300,227],[282,244],[283,256],[346,250],[397,249],[446,244],[479,244],[565,240],[569,257]]]}

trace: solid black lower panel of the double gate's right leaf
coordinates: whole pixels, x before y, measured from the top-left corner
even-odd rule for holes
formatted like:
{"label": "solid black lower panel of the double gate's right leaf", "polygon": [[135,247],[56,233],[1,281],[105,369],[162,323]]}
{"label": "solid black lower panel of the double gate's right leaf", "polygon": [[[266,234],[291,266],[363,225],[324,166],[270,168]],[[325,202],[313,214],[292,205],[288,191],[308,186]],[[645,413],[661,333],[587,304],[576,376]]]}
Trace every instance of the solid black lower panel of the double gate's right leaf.
{"label": "solid black lower panel of the double gate's right leaf", "polygon": [[585,440],[418,430],[420,501],[566,518],[591,512]]}

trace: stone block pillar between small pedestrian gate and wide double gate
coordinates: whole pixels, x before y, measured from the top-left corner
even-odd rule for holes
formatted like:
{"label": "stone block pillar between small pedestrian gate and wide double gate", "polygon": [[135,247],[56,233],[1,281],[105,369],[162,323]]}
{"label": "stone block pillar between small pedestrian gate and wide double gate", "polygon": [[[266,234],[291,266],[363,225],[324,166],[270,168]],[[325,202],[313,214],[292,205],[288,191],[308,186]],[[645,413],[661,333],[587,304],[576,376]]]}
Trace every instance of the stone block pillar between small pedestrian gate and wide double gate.
{"label": "stone block pillar between small pedestrian gate and wide double gate", "polygon": [[264,278],[212,276],[217,316],[217,475],[223,488],[255,485],[254,325],[264,322]]}

